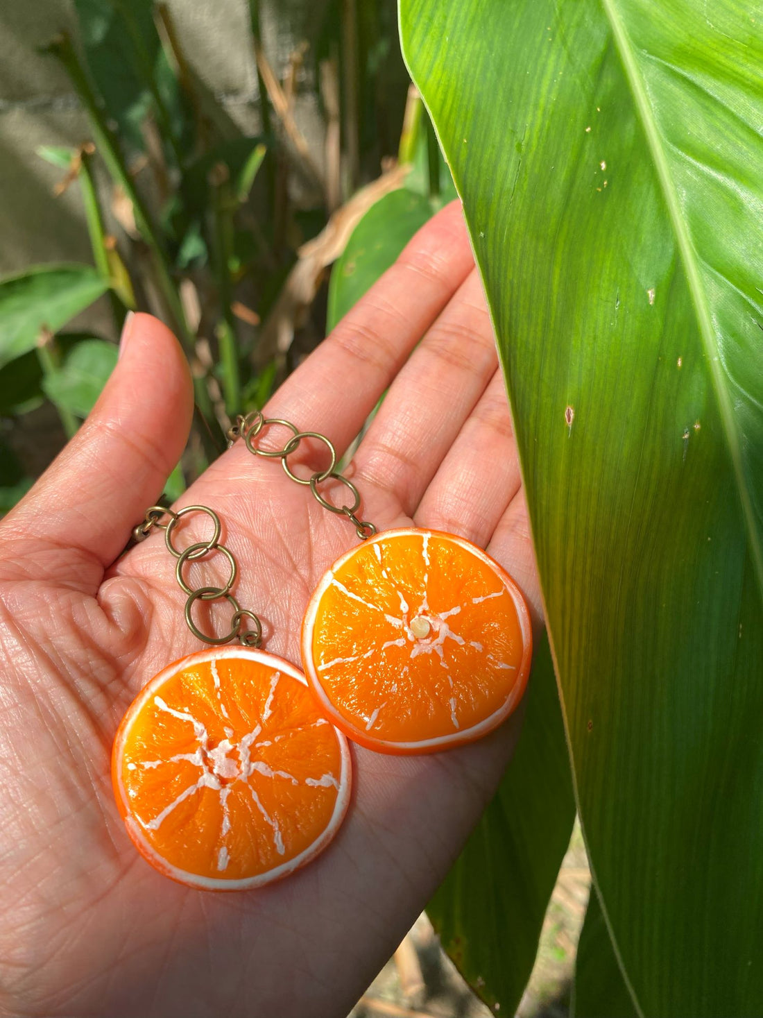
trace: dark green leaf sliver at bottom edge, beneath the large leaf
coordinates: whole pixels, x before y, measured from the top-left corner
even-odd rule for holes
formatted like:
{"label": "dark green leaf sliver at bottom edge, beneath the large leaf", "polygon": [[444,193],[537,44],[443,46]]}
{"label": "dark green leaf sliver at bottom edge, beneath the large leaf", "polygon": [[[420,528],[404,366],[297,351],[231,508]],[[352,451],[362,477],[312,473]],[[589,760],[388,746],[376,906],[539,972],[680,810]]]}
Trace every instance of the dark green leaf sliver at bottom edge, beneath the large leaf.
{"label": "dark green leaf sliver at bottom edge, beneath the large leaf", "polygon": [[570,1013],[571,1018],[637,1018],[593,887],[578,942]]}

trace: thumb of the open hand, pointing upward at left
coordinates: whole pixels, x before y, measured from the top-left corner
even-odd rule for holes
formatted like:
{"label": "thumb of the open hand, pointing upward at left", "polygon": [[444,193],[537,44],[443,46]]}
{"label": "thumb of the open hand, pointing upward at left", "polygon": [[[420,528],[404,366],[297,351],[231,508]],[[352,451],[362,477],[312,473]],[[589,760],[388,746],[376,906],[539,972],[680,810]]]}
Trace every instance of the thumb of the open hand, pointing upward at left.
{"label": "thumb of the open hand, pointing upward at left", "polygon": [[3,521],[3,558],[31,563],[38,578],[42,570],[44,578],[95,589],[180,458],[192,407],[175,337],[150,315],[130,318],[92,413]]}

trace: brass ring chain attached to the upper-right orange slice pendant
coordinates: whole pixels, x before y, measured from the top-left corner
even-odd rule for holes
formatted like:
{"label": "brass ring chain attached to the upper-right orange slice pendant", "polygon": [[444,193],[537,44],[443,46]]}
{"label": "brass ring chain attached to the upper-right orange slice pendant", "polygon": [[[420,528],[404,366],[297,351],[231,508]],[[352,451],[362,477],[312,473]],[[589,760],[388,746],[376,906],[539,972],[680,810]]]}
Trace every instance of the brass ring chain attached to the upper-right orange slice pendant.
{"label": "brass ring chain attached to the upper-right orange slice pendant", "polygon": [[[270,428],[272,425],[281,425],[283,428],[288,428],[292,433],[292,437],[288,440],[283,449],[258,449],[257,446],[254,445],[254,440],[266,428]],[[235,423],[228,429],[229,448],[239,438],[244,440],[244,445],[254,456],[268,456],[273,459],[280,458],[281,465],[283,466],[286,475],[298,485],[308,486],[312,497],[324,507],[324,509],[328,509],[329,512],[337,513],[339,516],[347,516],[350,522],[354,524],[355,533],[361,541],[365,541],[367,538],[372,538],[376,532],[376,527],[373,523],[368,520],[358,518],[357,512],[360,508],[360,492],[358,492],[357,488],[351,480],[348,480],[348,478],[342,473],[334,469],[337,465],[337,450],[334,448],[333,443],[326,437],[326,435],[321,435],[319,432],[300,432],[299,429],[290,420],[283,420],[281,417],[266,417],[259,410],[252,410],[245,416],[243,414],[239,414],[236,417]],[[288,462],[288,457],[297,451],[297,448],[303,439],[317,439],[319,442],[324,443],[331,454],[331,463],[329,466],[325,470],[316,470],[309,477],[298,477],[291,469]],[[330,479],[339,480],[340,484],[345,486],[348,492],[352,495],[352,505],[335,506],[324,498],[318,491],[318,485]]]}

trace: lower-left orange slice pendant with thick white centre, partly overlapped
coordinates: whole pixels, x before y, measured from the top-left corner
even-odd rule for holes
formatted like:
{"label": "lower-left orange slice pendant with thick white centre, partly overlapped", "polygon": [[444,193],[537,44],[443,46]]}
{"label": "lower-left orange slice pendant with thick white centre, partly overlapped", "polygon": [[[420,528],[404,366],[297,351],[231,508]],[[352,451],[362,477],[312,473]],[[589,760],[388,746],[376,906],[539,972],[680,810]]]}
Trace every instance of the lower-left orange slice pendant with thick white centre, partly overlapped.
{"label": "lower-left orange slice pendant with thick white centre, partly overlapped", "polygon": [[112,756],[117,805],[160,872],[208,890],[261,887],[332,840],[350,757],[302,673],[262,651],[203,651],[133,700]]}

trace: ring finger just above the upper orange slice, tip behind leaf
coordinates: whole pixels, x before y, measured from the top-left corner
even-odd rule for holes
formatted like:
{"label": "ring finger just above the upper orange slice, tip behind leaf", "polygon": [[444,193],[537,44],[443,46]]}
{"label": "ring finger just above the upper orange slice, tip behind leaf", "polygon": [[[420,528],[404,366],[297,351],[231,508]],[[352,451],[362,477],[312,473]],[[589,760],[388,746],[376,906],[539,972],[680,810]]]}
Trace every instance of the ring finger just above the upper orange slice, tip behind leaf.
{"label": "ring finger just above the upper orange slice, tip behind leaf", "polygon": [[424,493],[416,523],[458,533],[484,548],[521,485],[498,369]]}

